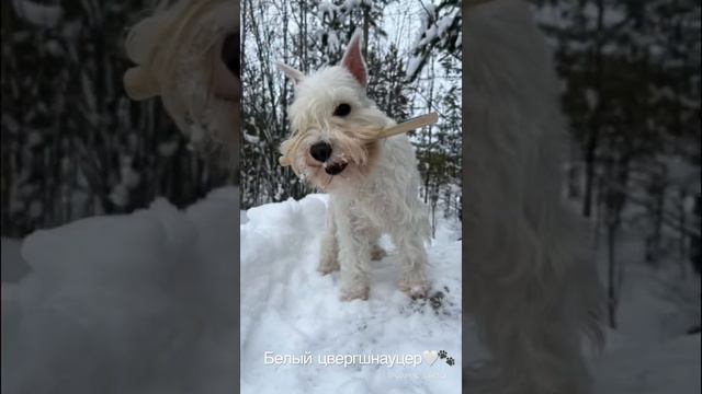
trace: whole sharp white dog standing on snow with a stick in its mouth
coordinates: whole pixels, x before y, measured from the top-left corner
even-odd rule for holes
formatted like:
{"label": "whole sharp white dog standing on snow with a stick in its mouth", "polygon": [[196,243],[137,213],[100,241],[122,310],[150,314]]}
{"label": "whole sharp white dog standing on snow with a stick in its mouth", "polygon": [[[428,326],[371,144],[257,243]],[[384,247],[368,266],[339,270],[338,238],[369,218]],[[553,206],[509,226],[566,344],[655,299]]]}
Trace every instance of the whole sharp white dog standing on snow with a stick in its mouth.
{"label": "whole sharp white dog standing on snow with a stick in its mouth", "polygon": [[424,297],[429,220],[419,200],[419,173],[407,136],[377,141],[394,125],[366,96],[367,73],[356,32],[338,66],[314,74],[279,63],[295,81],[293,134],[281,163],[330,195],[318,270],[340,270],[341,299],[367,299],[369,263],[389,233],[403,264],[399,288]]}

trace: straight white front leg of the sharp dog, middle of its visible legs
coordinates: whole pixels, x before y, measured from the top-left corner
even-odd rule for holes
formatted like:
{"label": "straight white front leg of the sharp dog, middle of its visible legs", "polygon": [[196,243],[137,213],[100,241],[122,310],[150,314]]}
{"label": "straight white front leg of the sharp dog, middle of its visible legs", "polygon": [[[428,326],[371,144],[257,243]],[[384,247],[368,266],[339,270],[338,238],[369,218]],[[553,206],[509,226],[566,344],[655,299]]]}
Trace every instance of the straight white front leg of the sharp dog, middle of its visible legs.
{"label": "straight white front leg of the sharp dog, middle of its visible legs", "polygon": [[369,263],[372,250],[369,232],[360,225],[363,219],[352,212],[337,211],[335,215],[341,268],[341,301],[367,300]]}

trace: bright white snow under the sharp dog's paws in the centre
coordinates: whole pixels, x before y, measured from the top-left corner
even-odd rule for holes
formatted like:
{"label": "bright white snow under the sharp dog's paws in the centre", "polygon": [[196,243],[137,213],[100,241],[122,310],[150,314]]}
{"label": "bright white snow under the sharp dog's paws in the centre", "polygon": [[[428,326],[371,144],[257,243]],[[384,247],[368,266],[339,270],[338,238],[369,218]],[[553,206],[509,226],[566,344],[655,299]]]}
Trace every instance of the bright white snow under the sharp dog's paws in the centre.
{"label": "bright white snow under the sharp dog's paws in the centre", "polygon": [[[429,275],[442,292],[411,301],[396,286],[390,254],[374,262],[369,301],[339,301],[338,273],[316,271],[326,197],[268,204],[241,224],[241,393],[460,393],[461,242],[455,223],[441,222],[429,247]],[[390,244],[384,240],[384,246]],[[451,367],[325,366],[329,355],[420,355],[446,350]],[[306,364],[267,364],[267,351]]]}

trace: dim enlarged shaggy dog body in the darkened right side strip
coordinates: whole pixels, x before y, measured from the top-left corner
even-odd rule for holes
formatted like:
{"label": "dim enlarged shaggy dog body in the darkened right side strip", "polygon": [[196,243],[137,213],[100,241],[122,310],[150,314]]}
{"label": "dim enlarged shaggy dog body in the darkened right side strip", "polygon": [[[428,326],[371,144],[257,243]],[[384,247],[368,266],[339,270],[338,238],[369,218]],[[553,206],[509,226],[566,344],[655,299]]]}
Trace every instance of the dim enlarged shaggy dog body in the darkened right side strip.
{"label": "dim enlarged shaggy dog body in the darkened right side strip", "polygon": [[494,368],[468,369],[466,390],[590,393],[581,337],[602,341],[603,292],[586,229],[562,206],[554,67],[525,2],[467,5],[464,312]]}

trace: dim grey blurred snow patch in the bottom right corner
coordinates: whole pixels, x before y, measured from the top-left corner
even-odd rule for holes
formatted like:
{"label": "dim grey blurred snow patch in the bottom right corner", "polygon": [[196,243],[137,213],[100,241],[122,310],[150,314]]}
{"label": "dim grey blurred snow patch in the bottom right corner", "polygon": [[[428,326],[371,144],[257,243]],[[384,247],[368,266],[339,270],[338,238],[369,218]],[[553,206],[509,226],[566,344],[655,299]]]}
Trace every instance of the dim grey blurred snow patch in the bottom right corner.
{"label": "dim grey blurred snow patch in the bottom right corner", "polygon": [[[616,331],[590,364],[598,394],[699,394],[700,335],[687,331],[700,318],[700,277],[688,262],[643,263],[643,236],[627,233],[618,244],[623,266]],[[605,271],[604,251],[598,253]],[[681,275],[680,267],[688,269]],[[603,276],[603,275],[602,275]]]}

